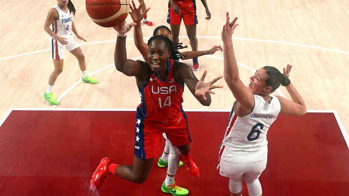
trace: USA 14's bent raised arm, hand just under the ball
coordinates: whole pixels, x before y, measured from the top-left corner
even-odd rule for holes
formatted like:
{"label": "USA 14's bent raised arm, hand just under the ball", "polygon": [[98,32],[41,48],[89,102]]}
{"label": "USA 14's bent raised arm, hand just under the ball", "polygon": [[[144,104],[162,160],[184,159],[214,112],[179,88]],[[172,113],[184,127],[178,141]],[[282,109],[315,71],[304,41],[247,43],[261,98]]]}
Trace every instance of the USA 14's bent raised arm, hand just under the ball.
{"label": "USA 14's bent raised arm, hand just under the ball", "polygon": [[126,33],[134,25],[136,24],[128,24],[126,22],[123,22],[117,27],[114,27],[114,29],[118,31],[118,37],[116,39],[116,46],[114,52],[114,63],[118,71],[124,73],[127,76],[137,77],[142,74],[141,61],[127,59],[126,54]]}

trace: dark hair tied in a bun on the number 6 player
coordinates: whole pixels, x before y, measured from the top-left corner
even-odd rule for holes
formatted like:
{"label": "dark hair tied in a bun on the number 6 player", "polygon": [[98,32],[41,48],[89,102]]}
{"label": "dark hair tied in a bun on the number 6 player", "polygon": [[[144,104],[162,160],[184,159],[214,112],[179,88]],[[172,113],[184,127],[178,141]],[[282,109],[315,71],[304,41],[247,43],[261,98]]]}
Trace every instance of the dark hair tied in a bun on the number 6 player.
{"label": "dark hair tied in a bun on the number 6 player", "polygon": [[288,79],[275,67],[264,66],[263,69],[268,75],[268,78],[266,80],[267,86],[272,87],[270,93],[279,88],[280,84],[283,86],[288,86],[291,83],[290,79]]}

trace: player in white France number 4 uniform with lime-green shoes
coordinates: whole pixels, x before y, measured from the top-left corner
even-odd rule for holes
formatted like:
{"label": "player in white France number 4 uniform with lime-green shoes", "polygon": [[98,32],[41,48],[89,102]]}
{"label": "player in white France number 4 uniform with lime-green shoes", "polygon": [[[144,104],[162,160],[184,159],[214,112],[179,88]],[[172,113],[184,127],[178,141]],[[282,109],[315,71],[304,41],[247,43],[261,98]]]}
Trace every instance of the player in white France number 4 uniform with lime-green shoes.
{"label": "player in white France number 4 uniform with lime-green shoes", "polygon": [[86,42],[86,40],[82,38],[75,29],[73,22],[75,8],[72,1],[57,0],[57,2],[57,5],[53,6],[47,14],[44,25],[44,30],[50,35],[50,45],[54,65],[54,70],[50,75],[49,84],[47,85],[46,92],[44,93],[44,99],[46,99],[51,105],[58,104],[57,100],[53,96],[52,90],[54,82],[63,70],[65,48],[78,60],[82,73],[82,82],[90,84],[98,83],[96,79],[87,75],[85,56],[82,54],[79,44],[76,43],[73,35],[70,34],[73,31],[78,39]]}

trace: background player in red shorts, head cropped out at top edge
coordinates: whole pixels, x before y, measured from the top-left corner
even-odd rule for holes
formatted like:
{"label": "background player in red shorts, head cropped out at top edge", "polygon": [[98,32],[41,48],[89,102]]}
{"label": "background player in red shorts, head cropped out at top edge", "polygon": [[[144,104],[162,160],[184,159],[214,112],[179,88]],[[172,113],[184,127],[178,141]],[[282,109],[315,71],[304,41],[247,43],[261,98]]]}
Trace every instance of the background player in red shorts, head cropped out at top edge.
{"label": "background player in red shorts, head cropped out at top edge", "polygon": [[[211,19],[211,13],[208,10],[206,0],[201,0],[206,9],[206,20]],[[169,11],[167,15],[167,23],[170,24],[172,31],[172,41],[174,44],[179,42],[180,23],[183,18],[190,45],[193,51],[198,50],[198,39],[196,38],[196,24],[198,24],[198,16],[196,15],[195,0],[169,0]],[[198,58],[193,58],[193,69],[199,70]]]}

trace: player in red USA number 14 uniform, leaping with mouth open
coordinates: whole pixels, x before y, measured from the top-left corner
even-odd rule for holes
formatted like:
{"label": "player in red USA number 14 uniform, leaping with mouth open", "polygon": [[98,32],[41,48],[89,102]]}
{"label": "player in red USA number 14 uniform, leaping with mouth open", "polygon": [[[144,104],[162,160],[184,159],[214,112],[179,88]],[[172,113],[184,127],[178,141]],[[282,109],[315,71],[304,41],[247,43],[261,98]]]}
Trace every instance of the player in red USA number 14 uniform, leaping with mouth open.
{"label": "player in red USA number 14 uniform, leaping with mouth open", "polygon": [[[116,174],[132,182],[143,183],[148,177],[155,150],[159,146],[161,134],[164,132],[168,135],[173,146],[176,146],[182,154],[181,160],[188,173],[193,177],[198,177],[199,168],[189,155],[188,144],[191,142],[191,138],[186,115],[181,106],[184,84],[187,85],[194,97],[206,106],[210,105],[211,102],[209,93],[215,94],[211,90],[223,88],[220,85],[213,85],[222,76],[205,83],[206,71],[198,80],[190,67],[184,63],[173,61],[172,59],[175,59],[171,52],[173,44],[170,39],[163,35],[149,39],[148,61],[127,59],[126,32],[134,25],[136,24],[128,25],[124,22],[115,27],[118,31],[118,37],[114,53],[117,70],[127,76],[135,76],[141,97],[141,104],[136,112],[134,163],[133,165],[117,165],[112,164],[109,158],[103,158],[92,175],[92,189],[101,187],[109,174]],[[176,184],[173,182],[169,189],[174,187]],[[174,190],[180,192],[179,189]]]}

